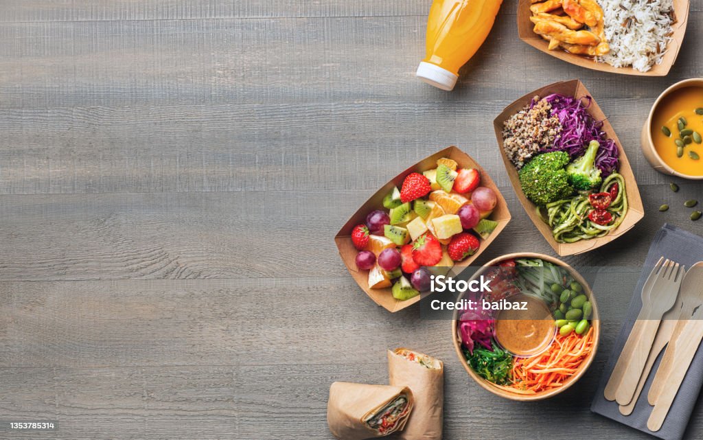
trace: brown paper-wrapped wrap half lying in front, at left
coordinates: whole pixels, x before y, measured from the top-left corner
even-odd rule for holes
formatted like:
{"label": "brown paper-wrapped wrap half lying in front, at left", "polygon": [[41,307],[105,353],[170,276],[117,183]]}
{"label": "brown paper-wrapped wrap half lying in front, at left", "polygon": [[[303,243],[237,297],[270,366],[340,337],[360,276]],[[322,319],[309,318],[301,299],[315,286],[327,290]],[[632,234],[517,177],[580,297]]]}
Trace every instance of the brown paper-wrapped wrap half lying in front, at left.
{"label": "brown paper-wrapped wrap half lying in front, at left", "polygon": [[[379,432],[366,424],[366,420],[382,410],[401,394],[408,398],[408,408],[394,427]],[[403,429],[413,409],[413,393],[408,387],[368,385],[351,382],[334,382],[330,387],[327,403],[327,423],[330,432],[340,440],[363,440],[385,436]]]}

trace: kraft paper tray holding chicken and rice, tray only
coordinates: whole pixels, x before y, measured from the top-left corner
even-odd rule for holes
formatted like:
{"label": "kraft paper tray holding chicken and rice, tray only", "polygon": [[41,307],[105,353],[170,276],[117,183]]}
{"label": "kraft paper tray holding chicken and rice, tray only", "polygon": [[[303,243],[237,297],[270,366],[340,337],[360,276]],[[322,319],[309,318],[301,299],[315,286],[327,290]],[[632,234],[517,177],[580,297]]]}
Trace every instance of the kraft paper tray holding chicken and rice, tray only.
{"label": "kraft paper tray holding chicken and rice, tray only", "polygon": [[548,49],[548,41],[535,34],[534,24],[529,20],[532,13],[529,10],[530,0],[520,0],[517,5],[517,34],[520,39],[530,46],[537,48],[544,53],[565,60],[567,63],[572,63],[587,69],[600,70],[600,72],[619,73],[621,75],[639,75],[643,77],[665,77],[669,74],[671,66],[676,61],[678,51],[683,43],[683,36],[686,33],[686,24],[688,22],[688,0],[673,0],[673,11],[676,15],[676,22],[671,26],[673,34],[669,46],[666,47],[666,53],[661,64],[655,64],[647,72],[640,72],[632,67],[613,67],[607,63],[597,63],[592,58],[586,56],[574,55],[568,53],[561,48],[554,51]]}

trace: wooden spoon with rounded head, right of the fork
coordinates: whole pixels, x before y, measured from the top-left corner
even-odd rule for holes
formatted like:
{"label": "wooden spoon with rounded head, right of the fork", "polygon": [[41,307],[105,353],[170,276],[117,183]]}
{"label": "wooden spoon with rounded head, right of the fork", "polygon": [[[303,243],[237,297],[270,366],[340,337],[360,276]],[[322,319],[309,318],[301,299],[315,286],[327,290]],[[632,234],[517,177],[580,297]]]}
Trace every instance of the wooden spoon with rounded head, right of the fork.
{"label": "wooden spoon with rounded head, right of the fork", "polygon": [[[703,304],[703,261],[699,261],[688,269],[685,278],[683,278],[683,283],[681,283],[681,292],[678,296],[683,298],[683,306],[678,313],[678,320],[674,321],[676,326],[671,334],[671,341],[674,342],[681,336],[683,328],[690,321],[696,308]],[[649,401],[650,405],[657,403],[657,399],[664,390],[666,377],[669,377],[671,373],[674,347],[676,347],[675,343],[671,343],[669,347],[666,347],[664,358],[659,363],[657,375],[654,376],[654,381],[647,394],[647,401]]]}

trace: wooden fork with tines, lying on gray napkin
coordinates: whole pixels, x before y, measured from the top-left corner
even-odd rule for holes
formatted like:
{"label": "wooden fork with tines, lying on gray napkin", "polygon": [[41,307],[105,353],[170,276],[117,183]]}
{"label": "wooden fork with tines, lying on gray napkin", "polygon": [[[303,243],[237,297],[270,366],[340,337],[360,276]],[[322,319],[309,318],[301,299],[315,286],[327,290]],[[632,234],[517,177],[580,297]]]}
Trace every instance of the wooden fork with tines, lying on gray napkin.
{"label": "wooden fork with tines, lying on gray napkin", "polygon": [[643,321],[643,327],[632,356],[628,359],[625,375],[615,393],[615,400],[620,405],[627,405],[632,401],[647,358],[652,351],[652,344],[654,337],[657,336],[662,316],[676,303],[685,268],[678,263],[673,263],[673,261],[671,263],[659,272],[650,292],[650,301],[643,305],[643,309],[647,309],[645,321]]}

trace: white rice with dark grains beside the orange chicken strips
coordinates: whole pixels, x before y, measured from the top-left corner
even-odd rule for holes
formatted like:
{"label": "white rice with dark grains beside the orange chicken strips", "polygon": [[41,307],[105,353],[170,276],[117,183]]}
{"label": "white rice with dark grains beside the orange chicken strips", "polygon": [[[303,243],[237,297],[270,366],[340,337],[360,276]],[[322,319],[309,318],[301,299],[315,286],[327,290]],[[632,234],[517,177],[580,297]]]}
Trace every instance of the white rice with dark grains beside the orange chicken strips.
{"label": "white rice with dark grains beside the orange chicken strips", "polygon": [[662,63],[671,41],[672,0],[599,0],[610,53],[598,57],[614,67],[647,72]]}

